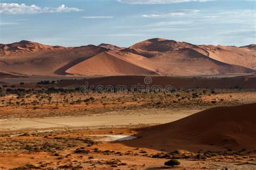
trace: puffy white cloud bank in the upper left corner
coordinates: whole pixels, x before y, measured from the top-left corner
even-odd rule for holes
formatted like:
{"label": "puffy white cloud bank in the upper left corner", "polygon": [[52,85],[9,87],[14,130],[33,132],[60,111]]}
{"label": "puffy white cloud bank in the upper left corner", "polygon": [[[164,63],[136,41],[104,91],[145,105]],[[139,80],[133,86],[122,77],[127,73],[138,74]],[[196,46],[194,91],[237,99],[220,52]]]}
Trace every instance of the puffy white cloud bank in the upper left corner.
{"label": "puffy white cloud bank in the upper left corner", "polygon": [[77,12],[83,11],[78,8],[69,8],[65,5],[60,5],[57,8],[44,7],[41,8],[36,5],[26,5],[17,3],[0,3],[0,13],[5,14],[24,14],[24,13],[53,13],[53,12]]}

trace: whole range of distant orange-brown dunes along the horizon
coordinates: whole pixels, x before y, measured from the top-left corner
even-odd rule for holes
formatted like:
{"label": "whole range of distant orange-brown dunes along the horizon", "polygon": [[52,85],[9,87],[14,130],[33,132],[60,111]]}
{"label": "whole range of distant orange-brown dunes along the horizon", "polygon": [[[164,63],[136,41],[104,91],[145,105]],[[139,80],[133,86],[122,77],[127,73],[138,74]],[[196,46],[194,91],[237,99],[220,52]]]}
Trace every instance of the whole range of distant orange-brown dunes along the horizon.
{"label": "whole range of distant orange-brown dunes along the horizon", "polygon": [[159,38],[129,48],[60,47],[23,40],[0,44],[0,71],[10,76],[251,74],[256,72],[255,49],[255,45],[192,45]]}

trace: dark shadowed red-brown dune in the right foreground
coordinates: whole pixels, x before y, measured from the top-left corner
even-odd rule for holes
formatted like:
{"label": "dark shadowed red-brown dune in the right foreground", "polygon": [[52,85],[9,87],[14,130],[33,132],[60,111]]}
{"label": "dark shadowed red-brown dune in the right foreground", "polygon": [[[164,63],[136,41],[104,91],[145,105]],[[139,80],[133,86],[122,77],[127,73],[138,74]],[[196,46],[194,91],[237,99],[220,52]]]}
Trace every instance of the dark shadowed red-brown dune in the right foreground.
{"label": "dark shadowed red-brown dune in the right foreground", "polygon": [[139,129],[133,147],[160,150],[256,148],[256,103],[207,109],[178,121]]}

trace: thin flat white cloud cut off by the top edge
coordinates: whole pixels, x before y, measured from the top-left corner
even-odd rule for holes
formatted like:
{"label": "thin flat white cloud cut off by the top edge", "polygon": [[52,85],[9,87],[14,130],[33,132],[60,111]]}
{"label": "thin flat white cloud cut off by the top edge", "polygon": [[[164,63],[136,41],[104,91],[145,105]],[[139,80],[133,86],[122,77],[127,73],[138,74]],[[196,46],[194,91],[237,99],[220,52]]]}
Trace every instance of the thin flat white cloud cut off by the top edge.
{"label": "thin flat white cloud cut off by the top edge", "polygon": [[118,2],[128,4],[172,4],[182,2],[206,2],[214,0],[117,0]]}

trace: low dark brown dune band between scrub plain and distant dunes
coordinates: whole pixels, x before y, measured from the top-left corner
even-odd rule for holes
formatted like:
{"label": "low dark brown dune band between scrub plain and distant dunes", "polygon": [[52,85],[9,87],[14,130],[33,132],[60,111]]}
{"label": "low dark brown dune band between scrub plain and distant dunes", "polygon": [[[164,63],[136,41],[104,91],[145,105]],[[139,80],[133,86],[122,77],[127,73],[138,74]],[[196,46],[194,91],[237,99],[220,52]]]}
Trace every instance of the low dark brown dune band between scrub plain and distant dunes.
{"label": "low dark brown dune band between scrub plain and distant dunes", "polygon": [[171,86],[173,88],[256,88],[256,76],[237,76],[223,78],[203,78],[203,77],[172,77],[172,76],[151,76],[149,84],[144,83],[146,76],[109,76],[83,80],[63,80],[55,84],[59,88],[80,87],[88,82],[89,86],[111,85],[116,87],[124,85],[128,88],[138,83],[141,85],[159,85],[163,88]]}

